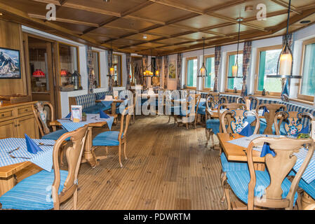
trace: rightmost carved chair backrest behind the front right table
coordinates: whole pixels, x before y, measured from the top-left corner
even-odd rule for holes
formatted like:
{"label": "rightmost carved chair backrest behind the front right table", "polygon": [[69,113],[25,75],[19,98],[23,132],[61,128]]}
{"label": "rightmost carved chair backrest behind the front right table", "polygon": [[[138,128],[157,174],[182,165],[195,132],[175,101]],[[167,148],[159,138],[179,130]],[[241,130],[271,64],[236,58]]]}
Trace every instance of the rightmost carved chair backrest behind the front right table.
{"label": "rightmost carved chair backrest behind the front right table", "polygon": [[[297,137],[297,134],[299,134],[301,131],[303,132],[304,130],[304,125],[302,124],[303,117],[307,117],[309,121],[314,120],[314,116],[312,116],[311,113],[279,111],[276,113],[276,116],[274,116],[274,129],[276,130],[276,134]],[[283,123],[283,121],[285,123]],[[309,122],[309,124],[310,123],[311,122]],[[310,130],[307,131],[307,133],[309,132]]]}

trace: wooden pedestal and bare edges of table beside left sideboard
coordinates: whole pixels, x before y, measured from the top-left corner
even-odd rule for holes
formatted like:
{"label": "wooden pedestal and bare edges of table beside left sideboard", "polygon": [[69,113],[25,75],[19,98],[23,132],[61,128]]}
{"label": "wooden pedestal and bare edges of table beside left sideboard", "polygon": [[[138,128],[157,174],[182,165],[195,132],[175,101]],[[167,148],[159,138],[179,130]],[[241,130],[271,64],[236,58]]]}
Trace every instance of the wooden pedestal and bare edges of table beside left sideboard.
{"label": "wooden pedestal and bare edges of table beside left sideboard", "polygon": [[[116,118],[117,115],[114,115],[114,118]],[[86,146],[84,148],[84,155],[81,162],[88,162],[91,167],[96,167],[96,165],[99,164],[98,160],[103,160],[106,158],[106,156],[98,156],[96,157],[94,151],[93,151],[93,137],[92,137],[92,130],[93,127],[104,127],[107,124],[106,121],[100,121],[98,123],[90,123],[88,124],[88,134],[86,136]],[[52,126],[62,126],[58,120],[52,121],[50,123]]]}

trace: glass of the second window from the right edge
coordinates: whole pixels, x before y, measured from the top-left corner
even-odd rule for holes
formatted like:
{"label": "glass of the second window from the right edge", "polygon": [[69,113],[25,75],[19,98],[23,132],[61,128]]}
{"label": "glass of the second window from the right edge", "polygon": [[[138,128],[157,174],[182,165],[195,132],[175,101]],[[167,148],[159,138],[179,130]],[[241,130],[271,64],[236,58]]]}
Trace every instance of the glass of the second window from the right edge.
{"label": "glass of the second window from the right edge", "polygon": [[276,66],[281,53],[279,50],[265,50],[260,52],[260,65],[257,90],[269,92],[281,92],[281,78],[267,78],[268,75],[276,75]]}

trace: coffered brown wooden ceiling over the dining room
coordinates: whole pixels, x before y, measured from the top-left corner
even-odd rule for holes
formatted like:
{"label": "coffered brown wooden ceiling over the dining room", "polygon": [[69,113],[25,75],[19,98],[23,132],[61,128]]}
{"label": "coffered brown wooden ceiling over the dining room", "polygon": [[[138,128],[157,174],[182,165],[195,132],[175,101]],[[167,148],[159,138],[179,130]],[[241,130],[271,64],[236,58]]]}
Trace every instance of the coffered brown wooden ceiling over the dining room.
{"label": "coffered brown wooden ceiling over the dining room", "polygon": [[[0,19],[71,38],[80,43],[140,55],[168,55],[237,41],[279,36],[286,31],[289,0],[0,0]],[[57,20],[47,21],[47,3]],[[267,6],[267,20],[256,18]],[[253,10],[245,10],[252,6]],[[315,0],[292,0],[290,31],[315,22]],[[302,20],[309,24],[302,25]],[[147,36],[147,39],[143,38]]]}

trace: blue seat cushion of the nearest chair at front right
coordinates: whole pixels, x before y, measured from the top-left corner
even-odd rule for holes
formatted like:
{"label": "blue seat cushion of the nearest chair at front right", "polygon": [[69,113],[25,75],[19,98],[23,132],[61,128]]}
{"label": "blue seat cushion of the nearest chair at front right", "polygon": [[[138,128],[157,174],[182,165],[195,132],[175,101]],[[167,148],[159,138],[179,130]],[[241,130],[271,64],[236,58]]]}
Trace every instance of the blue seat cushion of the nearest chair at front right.
{"label": "blue seat cushion of the nearest chair at front right", "polygon": [[[256,186],[254,195],[261,197],[264,195],[264,190],[270,184],[270,176],[267,171],[255,171]],[[250,182],[249,171],[227,172],[227,183],[231,186],[233,192],[240,200],[247,204],[248,201],[248,183]],[[281,184],[283,190],[282,198],[286,198],[289,193],[291,182],[286,178]],[[297,200],[297,193],[295,193],[294,203]]]}

